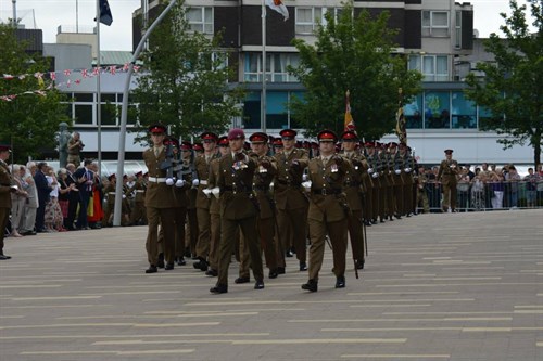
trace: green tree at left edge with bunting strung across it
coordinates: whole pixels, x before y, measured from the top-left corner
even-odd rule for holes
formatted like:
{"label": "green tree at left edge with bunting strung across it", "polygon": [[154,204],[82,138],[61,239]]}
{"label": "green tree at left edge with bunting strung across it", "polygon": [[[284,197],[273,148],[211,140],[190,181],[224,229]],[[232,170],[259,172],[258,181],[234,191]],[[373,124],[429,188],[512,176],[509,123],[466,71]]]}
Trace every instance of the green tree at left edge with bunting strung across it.
{"label": "green tree at left edge with bunting strung across it", "polygon": [[48,89],[49,62],[25,48],[12,26],[0,24],[0,74],[14,76],[0,79],[0,96],[11,96],[11,101],[0,99],[0,142],[13,145],[16,163],[54,154],[59,124],[70,124],[65,95]]}

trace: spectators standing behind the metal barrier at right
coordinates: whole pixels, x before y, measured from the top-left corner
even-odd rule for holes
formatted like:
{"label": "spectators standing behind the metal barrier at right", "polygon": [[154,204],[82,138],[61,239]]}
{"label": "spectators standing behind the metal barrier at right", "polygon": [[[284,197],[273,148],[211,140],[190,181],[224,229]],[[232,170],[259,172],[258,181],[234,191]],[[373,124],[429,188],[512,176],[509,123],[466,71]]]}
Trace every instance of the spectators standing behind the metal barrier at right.
{"label": "spectators standing behind the metal barrier at right", "polygon": [[[426,168],[426,185],[421,196],[428,198],[428,206],[420,208],[425,211],[441,208],[441,184],[435,182],[439,167]],[[543,169],[538,165],[535,169],[528,168],[528,175],[521,177],[517,167],[509,164],[503,167],[483,163],[480,167],[462,166],[457,184],[458,209],[492,210],[516,209],[519,207],[543,206]]]}

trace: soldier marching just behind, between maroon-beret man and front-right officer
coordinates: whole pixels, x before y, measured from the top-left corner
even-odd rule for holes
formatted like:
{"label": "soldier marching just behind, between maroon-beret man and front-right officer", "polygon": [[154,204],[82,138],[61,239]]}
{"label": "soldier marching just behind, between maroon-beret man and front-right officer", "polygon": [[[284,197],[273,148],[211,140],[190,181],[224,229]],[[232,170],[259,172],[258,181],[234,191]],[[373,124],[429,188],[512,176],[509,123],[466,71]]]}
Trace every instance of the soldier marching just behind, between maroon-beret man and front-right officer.
{"label": "soldier marching just behind, between maroon-beret man and front-right officer", "polygon": [[295,149],[296,131],[283,129],[279,132],[282,151],[275,155],[277,176],[274,181],[277,223],[279,225],[278,273],[285,273],[285,255],[292,244],[300,262],[300,271],[307,270],[306,263],[306,224],[307,198],[301,184],[303,171],[310,163],[307,152]]}

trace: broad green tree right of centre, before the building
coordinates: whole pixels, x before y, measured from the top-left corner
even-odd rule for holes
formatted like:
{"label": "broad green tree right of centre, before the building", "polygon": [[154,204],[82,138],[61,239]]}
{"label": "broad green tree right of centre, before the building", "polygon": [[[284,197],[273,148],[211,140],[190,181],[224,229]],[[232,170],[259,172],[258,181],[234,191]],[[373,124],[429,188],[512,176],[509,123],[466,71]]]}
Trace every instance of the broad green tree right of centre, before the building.
{"label": "broad green tree right of centre, before the building", "polygon": [[388,12],[372,18],[366,10],[355,17],[351,0],[337,21],[327,13],[315,46],[293,40],[300,65],[290,73],[306,92],[303,100],[293,101],[292,111],[307,136],[324,128],[343,131],[349,90],[358,136],[379,139],[395,127],[399,88],[403,88],[404,102],[420,92],[420,73],[407,70],[406,57],[393,53],[396,30],[388,27]]}

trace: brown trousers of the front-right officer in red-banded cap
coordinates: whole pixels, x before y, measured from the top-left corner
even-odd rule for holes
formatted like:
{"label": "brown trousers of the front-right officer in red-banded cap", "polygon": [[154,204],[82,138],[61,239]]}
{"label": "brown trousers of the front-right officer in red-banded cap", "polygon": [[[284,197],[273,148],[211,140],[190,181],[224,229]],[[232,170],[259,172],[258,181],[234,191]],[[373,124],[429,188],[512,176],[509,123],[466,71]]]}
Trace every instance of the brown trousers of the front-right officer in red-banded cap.
{"label": "brown trousers of the front-right officer in red-banded cap", "polygon": [[340,221],[326,222],[310,219],[310,280],[318,281],[318,272],[323,267],[325,256],[326,235],[330,237],[333,254],[333,273],[336,276],[345,274],[346,257],[346,217]]}

